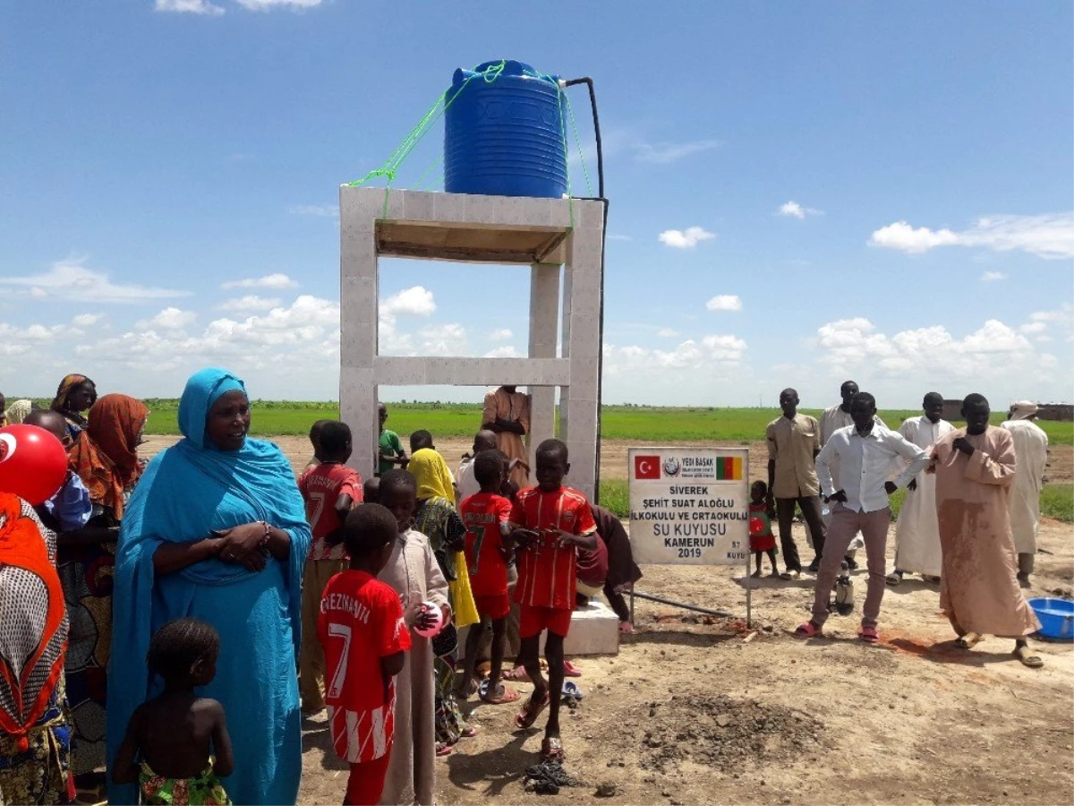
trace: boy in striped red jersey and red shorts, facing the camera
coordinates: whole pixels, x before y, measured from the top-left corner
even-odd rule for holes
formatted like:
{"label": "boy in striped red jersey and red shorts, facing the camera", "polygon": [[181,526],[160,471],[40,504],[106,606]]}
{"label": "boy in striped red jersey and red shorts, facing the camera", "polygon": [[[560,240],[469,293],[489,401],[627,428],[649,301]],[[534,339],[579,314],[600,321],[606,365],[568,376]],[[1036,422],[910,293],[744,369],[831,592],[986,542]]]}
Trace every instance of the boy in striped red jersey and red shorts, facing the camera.
{"label": "boy in striped red jersey and red shorts, facing the camera", "polygon": [[[567,446],[558,440],[546,440],[537,446],[537,486],[522,490],[511,508],[511,536],[519,545],[519,584],[514,589],[514,601],[521,605],[519,654],[534,681],[534,693],[514,717],[514,724],[532,726],[549,706],[541,761],[564,759],[560,739],[563,639],[575,609],[578,548],[596,548],[597,527],[590,502],[578,490],[563,486],[569,470]],[[543,630],[548,630],[547,681],[537,657]]]}

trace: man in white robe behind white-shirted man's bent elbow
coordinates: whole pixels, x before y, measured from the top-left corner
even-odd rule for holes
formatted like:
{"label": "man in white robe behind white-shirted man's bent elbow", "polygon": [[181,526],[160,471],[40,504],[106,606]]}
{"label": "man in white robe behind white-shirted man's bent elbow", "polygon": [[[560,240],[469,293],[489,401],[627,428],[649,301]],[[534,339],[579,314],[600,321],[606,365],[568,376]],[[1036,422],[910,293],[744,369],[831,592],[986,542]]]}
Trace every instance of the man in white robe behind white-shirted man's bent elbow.
{"label": "man in white robe behind white-shirted man's bent elbow", "polygon": [[[946,434],[955,430],[943,414],[943,395],[929,392],[921,402],[924,414],[908,418],[899,433],[927,454]],[[937,479],[933,474],[918,473],[906,486],[906,498],[895,527],[895,572],[887,584],[898,585],[903,574],[920,574],[926,581],[940,580],[943,552],[940,550],[940,523],[937,520]]]}

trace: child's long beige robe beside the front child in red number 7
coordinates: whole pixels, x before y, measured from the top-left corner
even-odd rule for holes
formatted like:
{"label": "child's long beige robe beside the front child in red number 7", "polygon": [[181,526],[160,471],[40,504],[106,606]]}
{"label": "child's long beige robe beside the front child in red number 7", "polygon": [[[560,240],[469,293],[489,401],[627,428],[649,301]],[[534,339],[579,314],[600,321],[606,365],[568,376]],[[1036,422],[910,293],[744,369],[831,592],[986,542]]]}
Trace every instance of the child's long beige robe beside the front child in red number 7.
{"label": "child's long beige robe beside the front child in red number 7", "polygon": [[[440,573],[429,538],[408,531],[392,546],[379,579],[407,601],[448,603],[448,582]],[[410,631],[412,645],[395,678],[395,739],[388,762],[384,791],[377,806],[434,806],[436,732],[433,647]]]}

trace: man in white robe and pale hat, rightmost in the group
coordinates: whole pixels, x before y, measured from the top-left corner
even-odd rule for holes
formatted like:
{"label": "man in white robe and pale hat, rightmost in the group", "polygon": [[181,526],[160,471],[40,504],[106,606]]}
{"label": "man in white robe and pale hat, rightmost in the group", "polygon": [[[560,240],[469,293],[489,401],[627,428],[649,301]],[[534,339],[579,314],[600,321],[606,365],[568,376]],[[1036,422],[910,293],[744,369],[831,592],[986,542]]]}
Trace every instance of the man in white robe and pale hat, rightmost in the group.
{"label": "man in white robe and pale hat, rightmost in the group", "polygon": [[1033,420],[1036,404],[1021,401],[1011,406],[1005,422],[1000,428],[1011,432],[1017,470],[1011,490],[1011,532],[1015,551],[1018,552],[1018,584],[1029,587],[1036,559],[1036,533],[1041,527],[1041,488],[1044,486],[1044,466],[1048,461],[1048,435]]}

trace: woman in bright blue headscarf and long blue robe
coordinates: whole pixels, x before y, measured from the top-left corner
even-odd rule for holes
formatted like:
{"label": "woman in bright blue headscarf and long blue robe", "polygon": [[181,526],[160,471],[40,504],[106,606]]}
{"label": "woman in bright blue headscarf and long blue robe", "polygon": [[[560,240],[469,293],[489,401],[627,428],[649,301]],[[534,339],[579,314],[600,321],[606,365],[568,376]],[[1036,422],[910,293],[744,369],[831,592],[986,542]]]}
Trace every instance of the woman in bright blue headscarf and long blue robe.
{"label": "woman in bright blue headscarf and long blue robe", "polygon": [[[236,804],[294,806],[302,772],[296,651],[302,566],[309,546],[302,496],[279,448],[250,440],[243,382],[202,370],[179,402],[186,437],[159,454],[131,495],[116,550],[107,745],[115,759],[150,679],[149,637],[179,617],[220,633],[204,696],[228,717]],[[137,788],[112,786],[110,806]]]}

